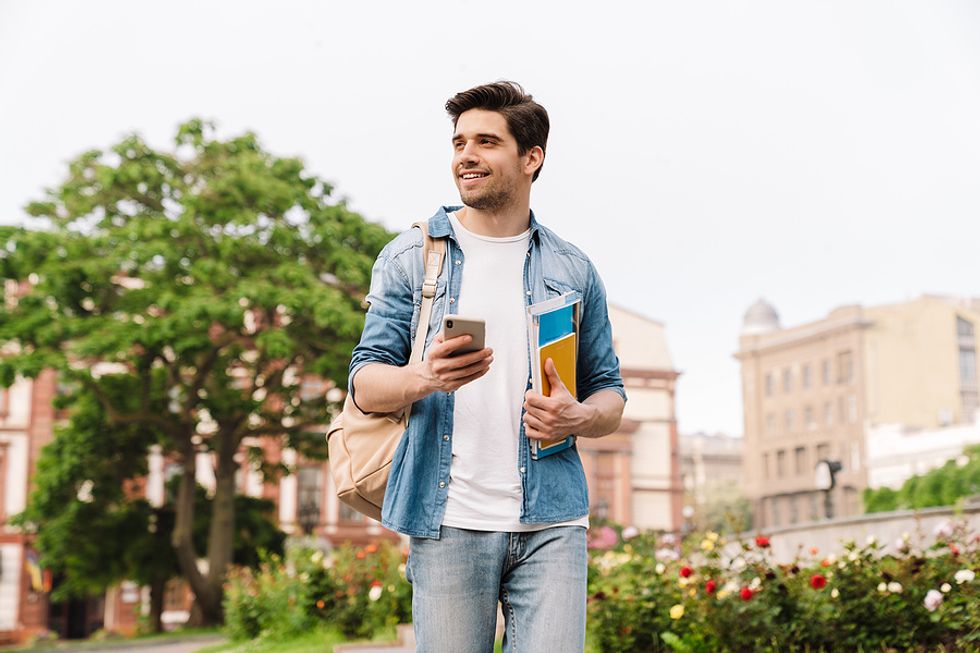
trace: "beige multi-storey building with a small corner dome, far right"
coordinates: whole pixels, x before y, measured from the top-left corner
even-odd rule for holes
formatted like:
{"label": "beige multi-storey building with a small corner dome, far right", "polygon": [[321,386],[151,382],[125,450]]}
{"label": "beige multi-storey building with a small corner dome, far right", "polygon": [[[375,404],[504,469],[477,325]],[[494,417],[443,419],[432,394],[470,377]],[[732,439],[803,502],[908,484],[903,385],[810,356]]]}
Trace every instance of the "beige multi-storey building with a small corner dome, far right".
{"label": "beige multi-storey building with a small corner dome, far right", "polygon": [[865,443],[880,424],[935,428],[977,411],[980,301],[925,296],[844,306],[782,328],[760,300],[745,314],[740,349],[746,493],[757,526],[819,518],[814,466],[839,461],[835,516],[862,511]]}

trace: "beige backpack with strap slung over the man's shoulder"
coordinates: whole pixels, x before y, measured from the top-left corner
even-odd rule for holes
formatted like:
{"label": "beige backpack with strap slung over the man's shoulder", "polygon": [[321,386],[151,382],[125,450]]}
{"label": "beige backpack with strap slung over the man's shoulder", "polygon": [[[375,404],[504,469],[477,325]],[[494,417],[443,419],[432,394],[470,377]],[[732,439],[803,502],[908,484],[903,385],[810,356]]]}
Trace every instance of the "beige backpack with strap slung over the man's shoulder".
{"label": "beige backpack with strap slung over the man's shoulder", "polygon": [[[429,318],[436,295],[436,280],[446,254],[445,239],[429,237],[425,222],[412,225],[422,230],[422,260],[425,280],[422,282],[422,308],[409,364],[422,360]],[[362,413],[348,392],[344,409],[327,429],[330,475],[337,498],[354,510],[381,521],[385,487],[391,471],[395,449],[408,428],[412,407],[398,413]]]}

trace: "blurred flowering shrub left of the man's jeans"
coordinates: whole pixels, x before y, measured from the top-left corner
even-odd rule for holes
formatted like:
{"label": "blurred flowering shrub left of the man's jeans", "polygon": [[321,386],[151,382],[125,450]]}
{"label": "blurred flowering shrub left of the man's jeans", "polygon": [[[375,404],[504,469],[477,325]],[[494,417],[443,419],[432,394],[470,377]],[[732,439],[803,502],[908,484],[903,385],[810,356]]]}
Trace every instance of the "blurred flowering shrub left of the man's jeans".
{"label": "blurred flowering shrub left of the man's jeans", "polygon": [[343,546],[330,553],[293,549],[266,556],[257,572],[233,570],[225,587],[225,623],[233,639],[287,639],[319,622],[370,638],[411,620],[404,554],[390,543]]}

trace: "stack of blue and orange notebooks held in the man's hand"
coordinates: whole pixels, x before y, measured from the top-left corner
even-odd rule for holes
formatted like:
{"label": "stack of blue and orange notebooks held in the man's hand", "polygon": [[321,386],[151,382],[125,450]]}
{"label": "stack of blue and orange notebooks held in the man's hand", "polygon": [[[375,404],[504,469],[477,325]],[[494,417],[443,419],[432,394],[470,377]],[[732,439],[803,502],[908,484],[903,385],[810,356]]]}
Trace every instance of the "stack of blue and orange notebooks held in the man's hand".
{"label": "stack of blue and orange notebooks held in the man's hand", "polygon": [[[577,292],[570,292],[527,307],[528,342],[531,346],[531,386],[546,397],[551,383],[545,374],[545,361],[551,359],[562,383],[576,397],[575,366],[578,361],[579,318],[582,302]],[[575,443],[574,435],[556,440],[531,440],[531,458],[567,449]]]}

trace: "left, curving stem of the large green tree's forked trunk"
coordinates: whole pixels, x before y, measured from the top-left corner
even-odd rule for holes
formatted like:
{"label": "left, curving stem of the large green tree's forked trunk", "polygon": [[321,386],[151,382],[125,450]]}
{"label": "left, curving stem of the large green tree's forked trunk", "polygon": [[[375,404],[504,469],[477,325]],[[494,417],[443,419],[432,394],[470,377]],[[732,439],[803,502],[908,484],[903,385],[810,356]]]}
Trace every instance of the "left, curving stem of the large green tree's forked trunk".
{"label": "left, curving stem of the large green tree's forked trunk", "polygon": [[[180,478],[175,506],[173,546],[181,574],[190,583],[196,603],[201,609],[201,626],[222,623],[221,586],[217,587],[209,577],[205,577],[197,567],[197,552],[194,550],[194,489],[197,475],[197,458],[190,437],[182,443],[181,466],[184,473]],[[210,576],[210,574],[209,574]]]}

